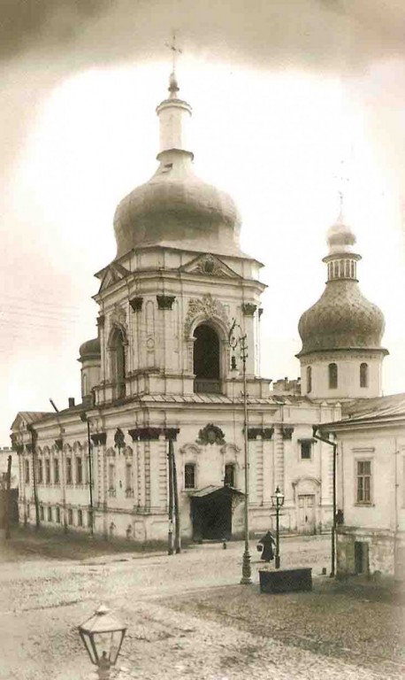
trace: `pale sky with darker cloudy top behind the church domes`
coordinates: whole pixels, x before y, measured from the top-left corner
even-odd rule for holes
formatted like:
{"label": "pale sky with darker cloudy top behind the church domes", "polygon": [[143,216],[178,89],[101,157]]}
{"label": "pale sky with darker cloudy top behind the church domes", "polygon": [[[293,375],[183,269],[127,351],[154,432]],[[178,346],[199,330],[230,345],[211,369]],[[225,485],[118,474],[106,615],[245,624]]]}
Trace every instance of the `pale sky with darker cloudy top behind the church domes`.
{"label": "pale sky with darker cloudy top behind the church domes", "polygon": [[405,391],[402,0],[2,0],[0,446],[18,411],[80,400],[93,274],[119,200],[157,167],[173,31],[195,171],[233,196],[264,263],[262,375],[299,375],[342,191],[386,316],[384,392]]}

